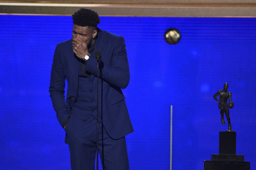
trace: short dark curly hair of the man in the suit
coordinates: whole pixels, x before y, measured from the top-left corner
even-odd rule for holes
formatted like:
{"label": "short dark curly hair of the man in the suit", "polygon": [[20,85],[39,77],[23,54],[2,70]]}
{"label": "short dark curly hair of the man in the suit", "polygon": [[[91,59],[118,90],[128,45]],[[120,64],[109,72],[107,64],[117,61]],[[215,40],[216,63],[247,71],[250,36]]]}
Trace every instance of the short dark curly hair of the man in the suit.
{"label": "short dark curly hair of the man in the suit", "polygon": [[100,24],[100,17],[91,9],[81,8],[72,15],[73,24],[81,27],[97,27]]}

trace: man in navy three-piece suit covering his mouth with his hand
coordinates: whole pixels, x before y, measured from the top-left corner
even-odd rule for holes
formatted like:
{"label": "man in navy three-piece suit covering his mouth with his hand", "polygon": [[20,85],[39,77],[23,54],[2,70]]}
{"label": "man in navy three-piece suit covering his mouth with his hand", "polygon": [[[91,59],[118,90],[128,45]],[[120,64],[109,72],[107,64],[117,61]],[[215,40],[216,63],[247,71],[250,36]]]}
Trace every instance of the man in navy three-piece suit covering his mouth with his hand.
{"label": "man in navy three-piece suit covering his mouth with his hand", "polygon": [[[134,130],[121,90],[130,80],[124,38],[99,29],[100,18],[90,9],[80,9],[72,19],[73,38],[59,43],[55,49],[49,88],[57,119],[66,132],[71,169],[95,168],[98,110],[102,168],[128,170],[125,135]],[[102,60],[97,95],[98,50]]]}

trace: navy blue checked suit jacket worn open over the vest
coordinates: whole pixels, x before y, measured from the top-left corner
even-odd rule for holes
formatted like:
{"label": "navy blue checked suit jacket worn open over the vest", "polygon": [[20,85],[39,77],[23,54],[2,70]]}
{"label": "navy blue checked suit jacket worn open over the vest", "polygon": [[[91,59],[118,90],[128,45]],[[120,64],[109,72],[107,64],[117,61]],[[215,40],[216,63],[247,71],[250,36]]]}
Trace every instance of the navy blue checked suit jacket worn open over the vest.
{"label": "navy blue checked suit jacket worn open over the vest", "polygon": [[[109,136],[119,139],[134,131],[121,90],[126,88],[130,80],[124,38],[98,29],[94,52],[85,65],[85,70],[95,75],[92,80],[95,100],[97,99],[95,51],[97,50],[102,53],[103,63],[102,77],[99,79],[99,114],[102,112],[102,122]],[[68,84],[66,101],[65,79]],[[74,57],[72,39],[59,43],[55,49],[49,92],[57,119],[63,126],[63,122],[70,117],[78,93],[78,60]]]}

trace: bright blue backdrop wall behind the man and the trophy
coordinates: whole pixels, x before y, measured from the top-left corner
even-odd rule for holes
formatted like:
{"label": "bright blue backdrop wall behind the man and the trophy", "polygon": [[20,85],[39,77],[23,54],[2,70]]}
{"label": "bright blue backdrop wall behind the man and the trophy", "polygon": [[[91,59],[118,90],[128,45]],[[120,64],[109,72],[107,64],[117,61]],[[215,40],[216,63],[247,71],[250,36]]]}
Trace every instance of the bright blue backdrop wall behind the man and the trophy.
{"label": "bright blue backdrop wall behind the man and the trophy", "polygon": [[[0,23],[0,169],[68,170],[48,87],[54,49],[72,37],[72,18],[1,15]],[[256,18],[101,17],[98,26],[126,40],[131,170],[169,169],[170,105],[173,170],[202,170],[228,129],[212,97],[225,82],[236,153],[256,169]],[[176,45],[163,38],[170,27],[182,34]]]}

